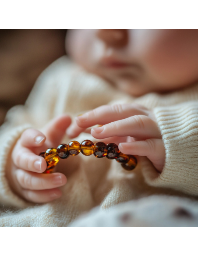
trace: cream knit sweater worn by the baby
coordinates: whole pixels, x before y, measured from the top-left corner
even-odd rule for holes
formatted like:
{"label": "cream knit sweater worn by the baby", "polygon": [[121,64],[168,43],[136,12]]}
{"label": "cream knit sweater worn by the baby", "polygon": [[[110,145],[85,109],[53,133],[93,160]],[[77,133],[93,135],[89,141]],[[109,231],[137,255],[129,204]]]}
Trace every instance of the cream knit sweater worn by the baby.
{"label": "cream knit sweater worn by the baby", "polygon": [[[103,104],[132,102],[154,110],[166,147],[166,164],[161,174],[146,157],[138,157],[138,166],[128,172],[114,160],[79,154],[73,157],[72,164],[67,165],[67,160],[63,160],[57,167],[67,176],[60,199],[34,206],[12,192],[5,173],[11,151],[25,129],[41,129],[63,113],[75,117]],[[75,138],[79,142],[84,139],[96,142],[84,133]],[[62,142],[69,141],[65,136]],[[95,206],[100,206],[102,212],[111,211],[110,207],[118,203],[151,195],[196,200],[198,84],[169,94],[149,93],[133,98],[82,71],[67,57],[61,57],[38,78],[25,106],[9,110],[0,128],[0,145],[0,226],[67,226]],[[161,197],[163,200],[164,196]],[[8,208],[14,210],[7,211]]]}

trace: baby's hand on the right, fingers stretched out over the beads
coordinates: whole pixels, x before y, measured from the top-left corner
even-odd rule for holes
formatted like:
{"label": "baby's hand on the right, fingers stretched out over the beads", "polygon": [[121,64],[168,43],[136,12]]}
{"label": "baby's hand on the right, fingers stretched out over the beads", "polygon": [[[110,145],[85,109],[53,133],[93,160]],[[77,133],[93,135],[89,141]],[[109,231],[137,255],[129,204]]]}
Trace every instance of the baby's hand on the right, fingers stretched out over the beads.
{"label": "baby's hand on the right, fingers stretched out over the beads", "polygon": [[147,156],[156,169],[162,171],[165,163],[163,140],[154,114],[145,107],[138,104],[104,105],[76,117],[76,123],[78,128],[73,125],[73,132],[103,124],[102,127],[91,130],[96,139],[130,136],[127,142],[119,144],[120,151],[124,154]]}

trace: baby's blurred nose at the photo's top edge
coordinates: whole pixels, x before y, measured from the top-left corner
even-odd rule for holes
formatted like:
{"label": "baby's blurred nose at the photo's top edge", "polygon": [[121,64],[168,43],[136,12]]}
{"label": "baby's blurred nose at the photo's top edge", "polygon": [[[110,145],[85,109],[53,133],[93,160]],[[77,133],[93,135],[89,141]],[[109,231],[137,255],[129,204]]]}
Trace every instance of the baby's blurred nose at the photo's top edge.
{"label": "baby's blurred nose at the photo's top edge", "polygon": [[112,47],[123,47],[128,42],[127,29],[99,29],[97,37]]}

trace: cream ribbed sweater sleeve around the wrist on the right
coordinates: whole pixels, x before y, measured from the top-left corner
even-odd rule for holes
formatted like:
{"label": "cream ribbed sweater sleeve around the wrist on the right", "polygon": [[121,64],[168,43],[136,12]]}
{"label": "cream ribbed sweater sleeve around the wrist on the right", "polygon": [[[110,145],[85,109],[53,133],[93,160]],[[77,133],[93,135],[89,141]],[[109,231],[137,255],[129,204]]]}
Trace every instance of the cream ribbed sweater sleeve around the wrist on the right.
{"label": "cream ribbed sweater sleeve around the wrist on the right", "polygon": [[198,196],[198,101],[156,107],[154,114],[166,160],[160,174],[149,163],[143,168],[146,182]]}

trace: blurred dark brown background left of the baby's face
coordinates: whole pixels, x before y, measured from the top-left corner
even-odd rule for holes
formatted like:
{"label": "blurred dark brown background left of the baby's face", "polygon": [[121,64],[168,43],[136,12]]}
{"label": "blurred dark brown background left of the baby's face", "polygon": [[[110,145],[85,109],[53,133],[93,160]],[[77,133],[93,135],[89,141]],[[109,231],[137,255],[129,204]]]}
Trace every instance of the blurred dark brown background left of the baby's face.
{"label": "blurred dark brown background left of the baby's face", "polygon": [[0,29],[0,125],[24,104],[35,80],[65,54],[67,29]]}

